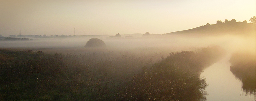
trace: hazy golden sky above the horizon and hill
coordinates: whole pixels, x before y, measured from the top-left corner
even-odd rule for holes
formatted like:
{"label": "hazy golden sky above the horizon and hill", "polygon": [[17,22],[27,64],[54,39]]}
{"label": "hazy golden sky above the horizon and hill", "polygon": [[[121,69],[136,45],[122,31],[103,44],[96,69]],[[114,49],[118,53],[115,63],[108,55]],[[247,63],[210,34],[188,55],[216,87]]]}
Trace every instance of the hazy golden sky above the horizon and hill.
{"label": "hazy golden sky above the horizon and hill", "polygon": [[0,0],[0,35],[163,34],[256,16],[256,0]]}

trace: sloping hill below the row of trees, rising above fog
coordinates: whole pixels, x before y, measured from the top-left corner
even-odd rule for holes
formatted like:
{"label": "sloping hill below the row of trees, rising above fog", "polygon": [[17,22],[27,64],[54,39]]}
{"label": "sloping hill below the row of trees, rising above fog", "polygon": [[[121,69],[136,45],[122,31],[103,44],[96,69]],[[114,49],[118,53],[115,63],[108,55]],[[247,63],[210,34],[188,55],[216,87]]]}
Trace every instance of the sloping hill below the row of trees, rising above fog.
{"label": "sloping hill below the row of trees, rising above fog", "polygon": [[177,34],[199,34],[199,35],[251,35],[256,33],[256,24],[246,22],[235,23],[220,23],[220,24],[207,24],[189,30],[176,31],[166,33],[163,35],[177,35]]}

